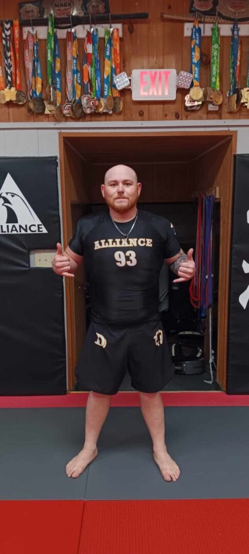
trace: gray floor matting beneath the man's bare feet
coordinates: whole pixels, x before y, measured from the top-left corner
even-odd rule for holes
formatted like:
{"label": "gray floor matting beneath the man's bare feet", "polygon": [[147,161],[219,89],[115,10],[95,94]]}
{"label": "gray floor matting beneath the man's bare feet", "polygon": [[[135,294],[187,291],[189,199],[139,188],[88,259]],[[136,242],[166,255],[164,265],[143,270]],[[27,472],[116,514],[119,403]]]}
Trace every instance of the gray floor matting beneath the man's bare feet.
{"label": "gray floor matting beneath the man's bare feet", "polygon": [[78,479],[65,464],[84,440],[82,408],[1,409],[1,499],[249,497],[248,407],[165,408],[167,446],[181,476],[167,483],[140,408],[111,408],[99,455]]}

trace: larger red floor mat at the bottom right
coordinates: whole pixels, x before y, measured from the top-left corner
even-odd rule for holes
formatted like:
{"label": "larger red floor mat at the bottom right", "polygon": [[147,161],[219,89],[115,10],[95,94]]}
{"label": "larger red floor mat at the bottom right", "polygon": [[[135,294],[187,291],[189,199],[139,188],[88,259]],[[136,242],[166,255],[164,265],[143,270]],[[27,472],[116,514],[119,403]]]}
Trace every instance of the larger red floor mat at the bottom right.
{"label": "larger red floor mat at the bottom right", "polygon": [[79,554],[247,554],[249,500],[86,501]]}

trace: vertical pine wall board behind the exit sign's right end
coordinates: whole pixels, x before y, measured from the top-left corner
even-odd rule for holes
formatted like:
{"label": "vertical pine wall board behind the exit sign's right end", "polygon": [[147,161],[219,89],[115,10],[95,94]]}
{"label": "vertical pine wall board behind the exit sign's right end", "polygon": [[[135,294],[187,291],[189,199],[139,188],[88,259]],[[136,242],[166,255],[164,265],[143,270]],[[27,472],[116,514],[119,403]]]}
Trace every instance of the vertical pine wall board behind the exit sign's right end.
{"label": "vertical pine wall board behind the exit sign's right end", "polygon": [[[174,0],[170,6],[164,4],[167,13],[184,13],[185,0]],[[188,12],[187,12],[188,13]],[[163,66],[164,68],[175,68],[177,74],[183,68],[183,23],[161,20],[163,25]],[[188,69],[189,70],[189,69]],[[174,101],[163,103],[163,119],[181,119],[181,109],[185,97],[185,89],[177,89],[177,98]]]}

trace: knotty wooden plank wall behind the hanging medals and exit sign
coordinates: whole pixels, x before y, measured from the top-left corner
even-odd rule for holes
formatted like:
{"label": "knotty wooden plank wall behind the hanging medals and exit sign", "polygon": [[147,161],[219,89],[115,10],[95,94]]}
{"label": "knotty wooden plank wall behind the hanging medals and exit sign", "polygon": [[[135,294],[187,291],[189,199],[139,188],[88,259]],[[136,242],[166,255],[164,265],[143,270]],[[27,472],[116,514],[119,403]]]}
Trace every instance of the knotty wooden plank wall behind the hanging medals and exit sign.
{"label": "knotty wooden plank wall behind the hanging medals and exit sign", "polygon": [[[123,22],[123,39],[121,39],[121,70],[131,75],[132,69],[142,68],[163,68],[172,67],[189,71],[190,67],[190,37],[184,37],[184,25],[180,22],[162,20],[161,13],[188,13],[190,0],[172,0],[170,3],[164,0],[112,0],[112,13],[127,13],[148,11],[149,19],[131,20]],[[13,18],[18,16],[18,0],[2,0],[0,2],[0,17]],[[247,54],[249,38],[242,37],[242,55],[240,85],[246,84]],[[177,99],[172,102],[134,102],[131,98],[131,90],[123,90],[123,111],[121,114],[93,114],[86,116],[82,121],[163,121],[163,120],[220,120],[220,119],[248,119],[249,110],[241,107],[240,111],[231,114],[226,111],[226,93],[229,89],[229,50],[230,37],[221,37],[221,68],[220,81],[221,90],[224,94],[224,102],[217,112],[209,112],[207,104],[200,110],[185,111],[184,97],[188,92],[185,89],[177,90]],[[211,37],[202,38],[202,51],[210,57]],[[45,40],[39,42],[42,76],[46,98],[46,61],[45,61]],[[82,63],[84,39],[79,39],[80,61]],[[21,40],[20,52],[22,57],[22,78],[25,86],[23,41]],[[100,39],[100,58],[103,68],[104,40]],[[60,40],[60,53],[62,71],[62,101],[65,102],[65,60],[66,43]],[[210,64],[201,65],[201,86],[209,84]],[[0,105],[0,121],[54,121],[53,115],[29,116],[25,106],[17,106],[13,103]],[[68,119],[65,118],[65,121]],[[72,122],[71,118],[69,121]],[[75,120],[74,120],[75,121]],[[77,126],[77,121],[75,121]]]}

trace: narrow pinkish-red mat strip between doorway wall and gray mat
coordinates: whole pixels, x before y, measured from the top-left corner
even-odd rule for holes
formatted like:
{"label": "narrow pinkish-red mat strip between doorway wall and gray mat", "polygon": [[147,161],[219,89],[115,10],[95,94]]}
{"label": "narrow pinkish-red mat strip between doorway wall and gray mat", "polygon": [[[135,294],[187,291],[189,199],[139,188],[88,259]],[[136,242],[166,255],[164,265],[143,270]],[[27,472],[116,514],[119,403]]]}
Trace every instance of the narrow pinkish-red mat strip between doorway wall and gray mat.
{"label": "narrow pinkish-red mat strip between doorway wall and gray mat", "polygon": [[[224,392],[162,392],[164,406],[249,406],[249,394],[229,395]],[[72,392],[58,396],[1,396],[0,408],[82,408],[88,392]],[[139,406],[137,392],[118,392],[112,407]]]}

